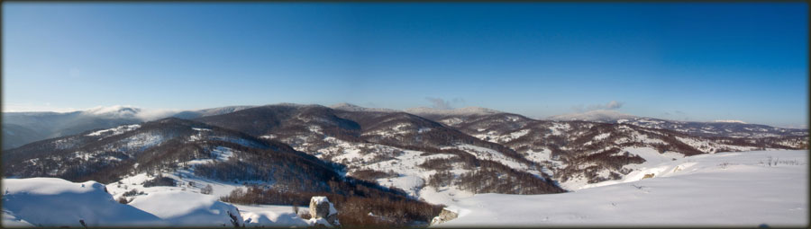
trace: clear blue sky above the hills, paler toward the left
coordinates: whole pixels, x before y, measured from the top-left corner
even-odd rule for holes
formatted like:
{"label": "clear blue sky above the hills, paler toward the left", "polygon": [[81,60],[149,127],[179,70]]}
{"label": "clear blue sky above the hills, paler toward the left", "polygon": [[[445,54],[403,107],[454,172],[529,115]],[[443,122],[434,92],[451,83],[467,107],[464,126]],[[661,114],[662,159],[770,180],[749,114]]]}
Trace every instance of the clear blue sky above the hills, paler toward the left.
{"label": "clear blue sky above the hills, paler toward the left", "polygon": [[3,6],[5,111],[438,103],[542,118],[615,101],[807,125],[806,3]]}

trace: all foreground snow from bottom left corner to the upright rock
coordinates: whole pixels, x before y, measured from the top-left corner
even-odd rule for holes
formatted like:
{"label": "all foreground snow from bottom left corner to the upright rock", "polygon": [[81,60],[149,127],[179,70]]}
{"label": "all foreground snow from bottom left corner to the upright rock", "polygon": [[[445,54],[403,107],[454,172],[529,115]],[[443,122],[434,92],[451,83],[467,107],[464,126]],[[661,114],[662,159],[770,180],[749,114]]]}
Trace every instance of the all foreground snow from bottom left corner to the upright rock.
{"label": "all foreground snow from bottom left corner to the upright rock", "polygon": [[[96,181],[74,183],[59,178],[4,179],[3,227],[8,226],[225,226],[237,223],[254,226],[311,226],[291,206],[246,206],[218,200],[191,187],[150,187],[135,185],[144,174],[123,181],[133,182],[143,193],[121,204],[122,188],[115,183]],[[194,180],[200,184],[214,184]],[[213,194],[236,189],[236,185],[215,188]],[[307,207],[301,207],[306,211]],[[81,222],[80,222],[81,220]]]}

